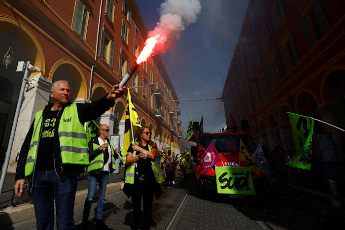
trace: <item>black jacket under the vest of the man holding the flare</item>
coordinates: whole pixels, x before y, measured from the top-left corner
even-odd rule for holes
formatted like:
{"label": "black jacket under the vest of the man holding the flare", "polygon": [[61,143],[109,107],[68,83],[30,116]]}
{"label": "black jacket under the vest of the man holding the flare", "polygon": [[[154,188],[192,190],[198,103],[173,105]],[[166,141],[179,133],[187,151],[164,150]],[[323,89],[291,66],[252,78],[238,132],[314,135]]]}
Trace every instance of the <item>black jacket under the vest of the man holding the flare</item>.
{"label": "black jacket under the vest of the man holding the flare", "polygon": [[[91,121],[100,117],[102,114],[104,114],[105,111],[109,110],[109,108],[114,106],[115,101],[107,100],[106,96],[107,94],[103,98],[93,101],[91,103],[84,103],[84,104],[77,103],[78,118],[81,124],[84,124],[87,121]],[[66,106],[70,104],[71,102],[67,103]],[[53,103],[45,106],[43,110],[42,122],[45,120],[47,112],[51,109],[51,107],[53,107]],[[57,119],[57,124],[55,125],[55,131],[54,131],[55,133],[58,133],[60,119],[63,114],[64,108],[65,107],[62,108],[61,113],[59,113],[57,117],[58,119]],[[16,170],[16,180],[25,178],[25,164],[26,164],[26,159],[28,157],[31,137],[34,131],[34,123],[35,123],[35,119],[33,123],[31,124],[30,130],[28,134],[26,135],[24,143],[20,150],[19,160],[18,160],[17,170]],[[85,165],[62,164],[59,135],[54,135],[54,146],[52,148],[54,148],[54,160],[55,160],[56,173],[58,174],[58,176],[60,177],[62,181],[65,181],[69,177],[76,176],[79,173],[83,172],[83,167]],[[33,172],[32,175],[35,175],[35,171]]]}

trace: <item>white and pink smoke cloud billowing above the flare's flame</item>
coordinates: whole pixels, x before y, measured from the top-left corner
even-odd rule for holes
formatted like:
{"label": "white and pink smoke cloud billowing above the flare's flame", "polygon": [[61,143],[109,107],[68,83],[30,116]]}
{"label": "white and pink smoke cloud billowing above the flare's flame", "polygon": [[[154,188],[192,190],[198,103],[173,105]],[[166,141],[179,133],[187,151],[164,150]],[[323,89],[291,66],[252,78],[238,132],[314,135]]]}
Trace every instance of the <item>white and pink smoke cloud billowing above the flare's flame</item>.
{"label": "white and pink smoke cloud billowing above the flare's flame", "polygon": [[164,53],[179,38],[180,32],[191,23],[195,23],[201,13],[199,0],[165,0],[159,8],[160,20],[148,37],[164,34],[166,42],[157,44],[156,51]]}

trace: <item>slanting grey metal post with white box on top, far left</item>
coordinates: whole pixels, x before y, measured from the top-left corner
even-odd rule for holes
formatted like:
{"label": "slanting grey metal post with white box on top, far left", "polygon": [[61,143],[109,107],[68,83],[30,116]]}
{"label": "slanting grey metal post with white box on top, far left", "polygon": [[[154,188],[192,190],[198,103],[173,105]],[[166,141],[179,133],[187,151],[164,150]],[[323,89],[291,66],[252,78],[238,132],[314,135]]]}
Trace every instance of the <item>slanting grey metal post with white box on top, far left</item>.
{"label": "slanting grey metal post with white box on top, far left", "polygon": [[11,134],[9,136],[9,141],[8,141],[8,146],[7,146],[7,151],[6,151],[6,157],[5,157],[5,162],[4,162],[3,167],[2,167],[2,173],[1,173],[1,178],[0,178],[0,194],[2,193],[3,183],[5,181],[5,177],[6,177],[6,173],[7,173],[9,157],[11,156],[13,139],[14,139],[14,133],[15,133],[16,128],[17,128],[19,111],[20,111],[20,107],[22,106],[25,85],[26,85],[26,82],[28,81],[29,71],[31,71],[31,70],[35,70],[35,71],[38,71],[38,72],[41,71],[40,68],[31,65],[30,61],[27,61],[26,64],[25,64],[24,61],[18,62],[17,70],[16,71],[17,72],[23,72],[24,71],[24,77],[23,77],[23,81],[22,81],[22,87],[20,88],[20,93],[19,93],[19,98],[18,98],[18,102],[17,102],[16,112],[14,114]]}

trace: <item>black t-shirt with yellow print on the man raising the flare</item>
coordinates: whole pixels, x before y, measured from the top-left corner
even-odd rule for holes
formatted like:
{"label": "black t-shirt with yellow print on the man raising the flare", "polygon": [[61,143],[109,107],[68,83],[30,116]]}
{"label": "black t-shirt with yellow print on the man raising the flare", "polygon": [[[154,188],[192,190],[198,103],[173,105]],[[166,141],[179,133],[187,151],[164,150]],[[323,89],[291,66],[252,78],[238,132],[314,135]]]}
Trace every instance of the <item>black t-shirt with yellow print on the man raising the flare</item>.
{"label": "black t-shirt with yellow print on the man raising the flare", "polygon": [[42,133],[38,143],[38,152],[35,169],[53,170],[54,169],[54,133],[56,119],[60,110],[49,110],[42,124]]}

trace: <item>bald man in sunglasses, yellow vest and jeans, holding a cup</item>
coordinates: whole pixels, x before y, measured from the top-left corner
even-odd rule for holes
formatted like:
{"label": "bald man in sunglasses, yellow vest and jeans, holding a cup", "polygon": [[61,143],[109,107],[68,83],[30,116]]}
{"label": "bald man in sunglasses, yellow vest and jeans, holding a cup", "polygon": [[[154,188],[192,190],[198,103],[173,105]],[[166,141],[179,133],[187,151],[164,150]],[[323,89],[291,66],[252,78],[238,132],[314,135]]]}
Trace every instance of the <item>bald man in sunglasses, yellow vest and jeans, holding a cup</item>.
{"label": "bald man in sunglasses, yellow vest and jeans, holding a cup", "polygon": [[[114,144],[108,139],[109,132],[109,126],[101,125],[99,128],[100,135],[93,137],[89,141],[90,164],[87,169],[89,172],[89,189],[84,204],[82,229],[87,229],[87,222],[92,206],[92,199],[96,194],[97,183],[99,190],[96,226],[98,229],[108,229],[102,220],[105,190],[109,180],[109,172],[112,173],[115,170],[115,154],[116,158],[118,157],[114,150]],[[117,152],[119,151],[118,149],[116,150]]]}

